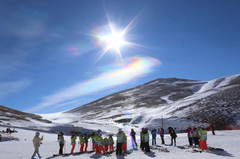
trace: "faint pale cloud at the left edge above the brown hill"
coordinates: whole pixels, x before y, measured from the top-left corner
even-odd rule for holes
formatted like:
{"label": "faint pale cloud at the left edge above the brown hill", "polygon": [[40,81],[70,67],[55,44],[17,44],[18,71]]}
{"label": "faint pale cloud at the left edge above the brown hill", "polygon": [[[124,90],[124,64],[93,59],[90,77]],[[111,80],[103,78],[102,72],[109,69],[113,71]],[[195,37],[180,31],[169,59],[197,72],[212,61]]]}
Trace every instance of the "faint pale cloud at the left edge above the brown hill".
{"label": "faint pale cloud at the left edge above the brown hill", "polygon": [[23,90],[24,88],[30,86],[31,83],[32,82],[28,79],[0,83],[0,100]]}

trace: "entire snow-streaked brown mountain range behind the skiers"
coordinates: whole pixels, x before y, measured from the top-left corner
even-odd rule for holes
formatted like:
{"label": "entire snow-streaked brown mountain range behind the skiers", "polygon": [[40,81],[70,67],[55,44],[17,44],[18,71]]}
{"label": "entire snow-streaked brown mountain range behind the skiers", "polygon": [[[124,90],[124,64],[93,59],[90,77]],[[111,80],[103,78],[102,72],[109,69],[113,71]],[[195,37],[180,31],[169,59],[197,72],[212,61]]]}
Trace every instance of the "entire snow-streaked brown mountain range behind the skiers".
{"label": "entire snow-streaked brown mountain range behind the skiers", "polygon": [[[191,125],[209,125],[215,122],[218,129],[239,124],[240,119],[240,74],[212,81],[187,79],[157,79],[137,87],[111,94],[75,109],[55,114],[32,116],[13,113],[0,107],[0,124],[17,125],[18,120],[47,127],[59,124],[116,132],[122,125],[126,128],[173,126],[178,131]],[[5,111],[4,111],[5,110]],[[19,115],[21,117],[19,117]],[[12,120],[14,119],[14,120]],[[29,125],[29,124],[26,124]],[[63,129],[63,127],[62,127]]]}

